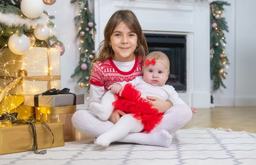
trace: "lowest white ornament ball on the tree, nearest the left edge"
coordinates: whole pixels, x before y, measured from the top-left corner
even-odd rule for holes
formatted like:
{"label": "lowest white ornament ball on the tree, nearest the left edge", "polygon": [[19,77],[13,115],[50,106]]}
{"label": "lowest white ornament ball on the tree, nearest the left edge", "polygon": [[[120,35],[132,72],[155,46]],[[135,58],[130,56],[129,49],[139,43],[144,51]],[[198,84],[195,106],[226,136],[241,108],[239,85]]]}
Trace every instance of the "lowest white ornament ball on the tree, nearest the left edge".
{"label": "lowest white ornament ball on the tree, nearest the left edge", "polygon": [[24,34],[14,34],[9,38],[8,47],[14,54],[24,54],[30,47],[30,40]]}

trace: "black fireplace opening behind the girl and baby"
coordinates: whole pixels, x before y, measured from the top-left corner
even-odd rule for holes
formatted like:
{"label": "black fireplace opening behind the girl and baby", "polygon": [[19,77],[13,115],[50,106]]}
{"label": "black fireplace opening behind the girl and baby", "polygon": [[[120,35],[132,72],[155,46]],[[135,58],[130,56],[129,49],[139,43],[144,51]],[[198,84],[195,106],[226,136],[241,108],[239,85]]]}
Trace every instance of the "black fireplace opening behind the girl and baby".
{"label": "black fireplace opening behind the girl and baby", "polygon": [[186,91],[186,36],[144,33],[148,51],[162,51],[170,60],[170,74],[166,84],[177,91]]}

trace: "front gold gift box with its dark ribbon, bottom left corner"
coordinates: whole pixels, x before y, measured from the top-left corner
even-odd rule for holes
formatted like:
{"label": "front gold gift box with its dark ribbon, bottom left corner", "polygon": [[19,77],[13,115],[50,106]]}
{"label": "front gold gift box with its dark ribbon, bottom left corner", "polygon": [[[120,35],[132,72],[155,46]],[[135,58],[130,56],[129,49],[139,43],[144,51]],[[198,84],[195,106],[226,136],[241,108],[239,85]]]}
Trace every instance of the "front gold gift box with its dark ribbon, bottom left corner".
{"label": "front gold gift box with its dark ribbon, bottom left corner", "polygon": [[45,153],[46,150],[38,150],[64,146],[64,123],[46,124],[32,117],[29,120],[17,119],[14,115],[4,113],[0,117],[0,155],[29,150]]}

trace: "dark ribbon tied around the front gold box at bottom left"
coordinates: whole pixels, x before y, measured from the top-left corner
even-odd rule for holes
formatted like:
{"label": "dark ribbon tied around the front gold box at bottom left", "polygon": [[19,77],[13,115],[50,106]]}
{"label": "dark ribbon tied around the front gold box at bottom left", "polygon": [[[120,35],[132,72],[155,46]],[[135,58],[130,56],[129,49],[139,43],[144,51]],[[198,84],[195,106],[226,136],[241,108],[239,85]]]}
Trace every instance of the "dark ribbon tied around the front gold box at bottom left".
{"label": "dark ribbon tied around the front gold box at bottom left", "polygon": [[[17,116],[17,114],[16,114]],[[46,150],[41,150],[41,151],[38,151],[38,143],[37,143],[37,137],[36,137],[36,125],[35,123],[39,122],[41,123],[42,125],[44,125],[44,127],[49,131],[51,132],[52,134],[52,144],[54,143],[54,134],[52,133],[52,130],[51,128],[49,127],[49,125],[47,125],[47,123],[45,122],[42,122],[41,120],[35,120],[33,117],[29,117],[27,120],[24,120],[24,119],[20,119],[20,118],[16,118],[15,116],[15,113],[6,113],[6,114],[2,114],[0,120],[2,122],[12,122],[12,123],[24,123],[24,124],[28,124],[30,129],[31,129],[31,132],[33,134],[33,147],[32,147],[32,150],[34,151],[34,153],[38,154],[45,154],[47,153]]]}

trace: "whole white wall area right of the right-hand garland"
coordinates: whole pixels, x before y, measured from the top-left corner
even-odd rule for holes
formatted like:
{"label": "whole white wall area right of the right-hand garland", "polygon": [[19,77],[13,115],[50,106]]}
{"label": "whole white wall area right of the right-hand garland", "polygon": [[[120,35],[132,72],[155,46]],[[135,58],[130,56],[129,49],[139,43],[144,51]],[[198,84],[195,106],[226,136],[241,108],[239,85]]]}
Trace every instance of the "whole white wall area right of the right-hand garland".
{"label": "whole white wall area right of the right-hand garland", "polygon": [[228,0],[223,17],[228,22],[226,53],[230,61],[227,79],[221,88],[214,92],[216,106],[256,106],[256,13],[255,0]]}

